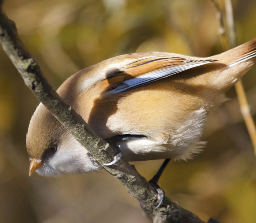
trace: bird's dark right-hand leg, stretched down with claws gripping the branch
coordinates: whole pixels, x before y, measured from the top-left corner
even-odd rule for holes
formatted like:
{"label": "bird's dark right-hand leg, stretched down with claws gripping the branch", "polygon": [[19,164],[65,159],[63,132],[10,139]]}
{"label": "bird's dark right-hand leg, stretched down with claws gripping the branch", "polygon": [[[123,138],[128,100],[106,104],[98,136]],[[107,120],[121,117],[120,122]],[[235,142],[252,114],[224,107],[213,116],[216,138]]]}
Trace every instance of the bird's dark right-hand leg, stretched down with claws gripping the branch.
{"label": "bird's dark right-hand leg, stretched down with claws gripping the branch", "polygon": [[[157,204],[157,206],[155,206],[153,208],[153,210],[157,209],[163,202],[163,198],[165,197],[165,192],[163,191],[162,188],[160,188],[157,184],[159,178],[161,177],[163,170],[166,168],[167,164],[170,162],[171,159],[165,159],[165,161],[163,161],[163,164],[161,165],[161,167],[159,168],[159,170],[157,171],[157,173],[155,174],[154,177],[152,177],[152,179],[149,182],[149,184],[158,192],[158,196],[159,196],[159,202]],[[148,210],[142,203],[140,203],[140,207],[143,209],[143,211],[147,212],[147,213],[151,213],[150,210]]]}

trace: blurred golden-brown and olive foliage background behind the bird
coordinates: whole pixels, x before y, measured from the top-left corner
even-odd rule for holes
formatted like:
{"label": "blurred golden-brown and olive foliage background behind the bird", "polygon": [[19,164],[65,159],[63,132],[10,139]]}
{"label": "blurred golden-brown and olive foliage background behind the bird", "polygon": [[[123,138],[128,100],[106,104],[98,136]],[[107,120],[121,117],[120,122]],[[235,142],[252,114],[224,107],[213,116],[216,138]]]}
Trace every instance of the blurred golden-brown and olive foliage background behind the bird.
{"label": "blurred golden-brown and olive foliage background behind the bird", "polygon": [[[224,8],[223,0],[217,0]],[[256,37],[256,1],[234,0],[237,44]],[[71,74],[120,54],[223,51],[210,0],[5,0],[20,38],[55,89]],[[1,48],[1,47],[0,47]],[[256,120],[256,66],[242,82]],[[171,162],[159,183],[203,220],[256,222],[256,157],[232,98],[212,114],[206,149]],[[29,177],[26,131],[39,101],[0,49],[0,222],[151,222],[114,177]],[[148,180],[162,161],[134,162]]]}

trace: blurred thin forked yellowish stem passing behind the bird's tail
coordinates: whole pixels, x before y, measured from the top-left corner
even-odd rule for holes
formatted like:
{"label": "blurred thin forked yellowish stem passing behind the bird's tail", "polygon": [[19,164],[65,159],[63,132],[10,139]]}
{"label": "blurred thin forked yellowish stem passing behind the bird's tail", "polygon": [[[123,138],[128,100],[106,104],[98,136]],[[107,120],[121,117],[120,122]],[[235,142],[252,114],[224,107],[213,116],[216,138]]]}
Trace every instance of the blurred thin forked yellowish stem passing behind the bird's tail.
{"label": "blurred thin forked yellowish stem passing behind the bird's tail", "polygon": [[[234,26],[234,15],[233,15],[233,5],[231,0],[225,0],[225,9],[226,9],[226,26],[224,25],[224,18],[223,13],[221,9],[219,8],[218,3],[215,0],[211,0],[215,8],[217,9],[217,15],[220,23],[220,36],[221,36],[221,43],[223,46],[223,49],[229,50],[231,48],[236,47],[236,31]],[[240,110],[241,114],[243,116],[243,119],[245,121],[248,133],[250,135],[252,145],[254,148],[254,152],[256,155],[256,127],[255,123],[253,121],[250,107],[248,104],[248,101],[246,99],[244,87],[242,85],[241,81],[238,81],[235,84],[236,92],[237,92],[237,98],[240,104]]]}

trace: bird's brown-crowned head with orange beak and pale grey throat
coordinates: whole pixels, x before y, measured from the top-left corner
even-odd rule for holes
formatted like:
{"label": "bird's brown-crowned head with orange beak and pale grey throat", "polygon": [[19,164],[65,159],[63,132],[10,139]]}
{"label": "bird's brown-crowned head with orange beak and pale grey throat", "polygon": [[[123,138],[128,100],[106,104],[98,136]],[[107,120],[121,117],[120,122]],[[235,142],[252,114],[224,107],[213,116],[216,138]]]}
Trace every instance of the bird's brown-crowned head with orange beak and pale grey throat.
{"label": "bird's brown-crowned head with orange beak and pale grey throat", "polygon": [[29,175],[61,176],[98,170],[88,151],[39,104],[29,124],[26,138],[30,157]]}

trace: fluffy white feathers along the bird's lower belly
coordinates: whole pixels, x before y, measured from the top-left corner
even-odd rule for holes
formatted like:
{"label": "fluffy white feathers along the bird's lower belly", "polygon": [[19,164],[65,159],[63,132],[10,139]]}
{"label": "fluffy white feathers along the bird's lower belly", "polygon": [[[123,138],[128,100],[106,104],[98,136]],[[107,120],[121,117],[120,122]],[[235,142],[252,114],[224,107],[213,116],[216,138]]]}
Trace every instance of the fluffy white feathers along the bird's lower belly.
{"label": "fluffy white feathers along the bird's lower belly", "polygon": [[184,125],[172,131],[168,141],[142,138],[118,142],[118,145],[127,161],[166,158],[186,160],[206,145],[206,142],[200,141],[206,122],[207,112],[200,108],[191,113]]}

